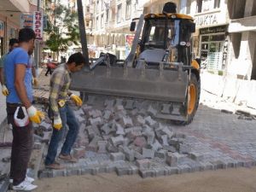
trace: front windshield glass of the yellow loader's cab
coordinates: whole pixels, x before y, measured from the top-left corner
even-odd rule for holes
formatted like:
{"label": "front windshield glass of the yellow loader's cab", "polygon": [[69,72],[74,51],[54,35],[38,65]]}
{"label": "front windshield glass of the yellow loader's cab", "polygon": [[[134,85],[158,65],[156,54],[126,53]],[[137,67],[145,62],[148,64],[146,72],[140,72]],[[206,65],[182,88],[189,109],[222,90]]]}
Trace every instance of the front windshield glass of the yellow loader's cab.
{"label": "front windshield glass of the yellow loader's cab", "polygon": [[151,19],[145,27],[145,49],[167,49],[170,44],[175,46],[178,42],[179,20]]}

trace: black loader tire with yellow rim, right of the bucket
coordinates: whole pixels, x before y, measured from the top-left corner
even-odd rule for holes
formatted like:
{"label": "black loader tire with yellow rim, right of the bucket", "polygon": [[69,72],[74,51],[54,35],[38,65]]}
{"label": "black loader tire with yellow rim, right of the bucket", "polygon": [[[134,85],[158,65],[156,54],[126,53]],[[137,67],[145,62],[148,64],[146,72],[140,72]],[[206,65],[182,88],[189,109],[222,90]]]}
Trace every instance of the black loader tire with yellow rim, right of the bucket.
{"label": "black loader tire with yellow rim, right of the bucket", "polygon": [[173,120],[172,123],[175,125],[189,125],[195,116],[199,105],[200,93],[201,93],[201,82],[197,79],[195,73],[191,73],[190,84],[189,84],[188,99],[185,103],[185,110],[188,113],[187,121]]}

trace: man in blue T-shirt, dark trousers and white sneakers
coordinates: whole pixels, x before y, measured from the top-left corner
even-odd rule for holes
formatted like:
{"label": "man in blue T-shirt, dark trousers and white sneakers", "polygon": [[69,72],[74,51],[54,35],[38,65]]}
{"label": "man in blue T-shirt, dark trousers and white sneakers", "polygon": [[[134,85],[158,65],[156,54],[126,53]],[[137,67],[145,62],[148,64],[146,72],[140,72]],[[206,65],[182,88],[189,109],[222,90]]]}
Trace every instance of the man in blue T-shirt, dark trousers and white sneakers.
{"label": "man in blue T-shirt, dark trousers and white sneakers", "polygon": [[9,90],[7,96],[7,117],[13,125],[10,179],[13,189],[32,190],[37,185],[26,176],[26,168],[33,145],[32,122],[40,124],[44,113],[32,106],[32,66],[28,52],[34,49],[36,35],[31,28],[20,29],[20,47],[7,55],[4,61],[4,75]]}

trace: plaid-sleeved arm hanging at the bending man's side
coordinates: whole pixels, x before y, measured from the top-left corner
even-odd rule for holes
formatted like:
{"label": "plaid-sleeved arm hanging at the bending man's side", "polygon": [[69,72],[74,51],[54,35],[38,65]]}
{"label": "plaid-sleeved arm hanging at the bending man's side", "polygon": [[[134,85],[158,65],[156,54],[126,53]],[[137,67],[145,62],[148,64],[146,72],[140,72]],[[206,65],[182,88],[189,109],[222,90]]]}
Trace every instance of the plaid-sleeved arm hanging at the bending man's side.
{"label": "plaid-sleeved arm hanging at the bending man's side", "polygon": [[49,91],[49,107],[53,111],[55,118],[58,118],[60,116],[57,99],[64,84],[64,75],[64,73],[55,73],[51,77],[51,87]]}

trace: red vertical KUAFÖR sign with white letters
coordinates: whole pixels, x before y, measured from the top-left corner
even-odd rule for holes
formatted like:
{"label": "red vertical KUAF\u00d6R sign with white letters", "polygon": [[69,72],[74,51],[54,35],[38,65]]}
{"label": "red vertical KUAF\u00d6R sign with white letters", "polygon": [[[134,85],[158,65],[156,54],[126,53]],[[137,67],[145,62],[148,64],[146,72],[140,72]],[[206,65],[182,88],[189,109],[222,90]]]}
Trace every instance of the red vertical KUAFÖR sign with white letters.
{"label": "red vertical KUAF\u00d6R sign with white letters", "polygon": [[43,40],[44,16],[42,11],[35,11],[33,15],[33,30],[36,33],[36,39]]}

